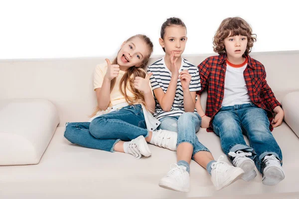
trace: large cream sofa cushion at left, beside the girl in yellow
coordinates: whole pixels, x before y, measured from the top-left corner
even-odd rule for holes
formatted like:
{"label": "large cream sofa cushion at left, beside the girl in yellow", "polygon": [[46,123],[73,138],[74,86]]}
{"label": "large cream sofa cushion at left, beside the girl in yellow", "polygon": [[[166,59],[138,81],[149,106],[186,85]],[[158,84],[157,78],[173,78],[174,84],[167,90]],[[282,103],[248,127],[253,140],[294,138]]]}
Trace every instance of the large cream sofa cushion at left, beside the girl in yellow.
{"label": "large cream sofa cushion at left, beside the girl in yellow", "polygon": [[48,100],[0,100],[0,165],[38,164],[58,123]]}

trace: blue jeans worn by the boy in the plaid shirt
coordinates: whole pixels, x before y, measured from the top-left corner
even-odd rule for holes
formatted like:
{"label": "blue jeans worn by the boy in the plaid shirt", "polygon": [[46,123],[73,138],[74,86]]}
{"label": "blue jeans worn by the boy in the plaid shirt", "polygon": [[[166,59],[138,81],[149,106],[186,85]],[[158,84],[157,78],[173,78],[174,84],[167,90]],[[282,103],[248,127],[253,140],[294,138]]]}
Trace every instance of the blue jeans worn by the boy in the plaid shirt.
{"label": "blue jeans worn by the boy in the plaid shirt", "polygon": [[[212,126],[230,161],[230,151],[242,150],[253,154],[250,158],[255,161],[259,171],[266,155],[273,154],[282,163],[282,151],[269,129],[267,112],[254,103],[222,107],[215,115]],[[250,146],[246,144],[242,133],[248,137]]]}

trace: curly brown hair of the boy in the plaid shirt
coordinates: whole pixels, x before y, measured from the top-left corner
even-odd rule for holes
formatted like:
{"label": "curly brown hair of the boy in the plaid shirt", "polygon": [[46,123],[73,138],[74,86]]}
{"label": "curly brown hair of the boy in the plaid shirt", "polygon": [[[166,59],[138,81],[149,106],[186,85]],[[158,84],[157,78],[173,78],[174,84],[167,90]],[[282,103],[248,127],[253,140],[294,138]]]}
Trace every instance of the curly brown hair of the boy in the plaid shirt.
{"label": "curly brown hair of the boy in the plaid shirt", "polygon": [[224,39],[228,36],[243,35],[247,36],[248,42],[245,50],[245,55],[251,52],[253,43],[257,40],[256,34],[252,34],[252,28],[241,17],[229,17],[224,19],[213,38],[214,52],[219,55],[225,54]]}

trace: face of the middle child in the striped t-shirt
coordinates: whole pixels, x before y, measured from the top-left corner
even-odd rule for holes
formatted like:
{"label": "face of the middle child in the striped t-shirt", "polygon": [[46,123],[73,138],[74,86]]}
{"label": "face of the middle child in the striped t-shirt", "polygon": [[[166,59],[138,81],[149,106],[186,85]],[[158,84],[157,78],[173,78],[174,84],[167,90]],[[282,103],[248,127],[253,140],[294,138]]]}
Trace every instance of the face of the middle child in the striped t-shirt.
{"label": "face of the middle child in the striped t-shirt", "polygon": [[171,25],[166,27],[164,39],[159,39],[162,48],[165,48],[165,53],[170,56],[171,51],[174,51],[175,57],[180,57],[185,50],[187,41],[186,28],[181,25]]}

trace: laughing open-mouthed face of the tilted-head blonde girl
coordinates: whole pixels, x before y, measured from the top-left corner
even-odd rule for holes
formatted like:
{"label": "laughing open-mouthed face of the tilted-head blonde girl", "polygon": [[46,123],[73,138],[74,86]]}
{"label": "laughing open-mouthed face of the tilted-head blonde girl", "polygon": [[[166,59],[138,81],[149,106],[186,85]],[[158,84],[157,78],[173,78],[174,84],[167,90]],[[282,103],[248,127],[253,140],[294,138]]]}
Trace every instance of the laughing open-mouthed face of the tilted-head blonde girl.
{"label": "laughing open-mouthed face of the tilted-head blonde girl", "polygon": [[148,56],[149,49],[144,40],[134,37],[130,41],[124,42],[117,55],[117,63],[123,67],[141,66],[144,59]]}

